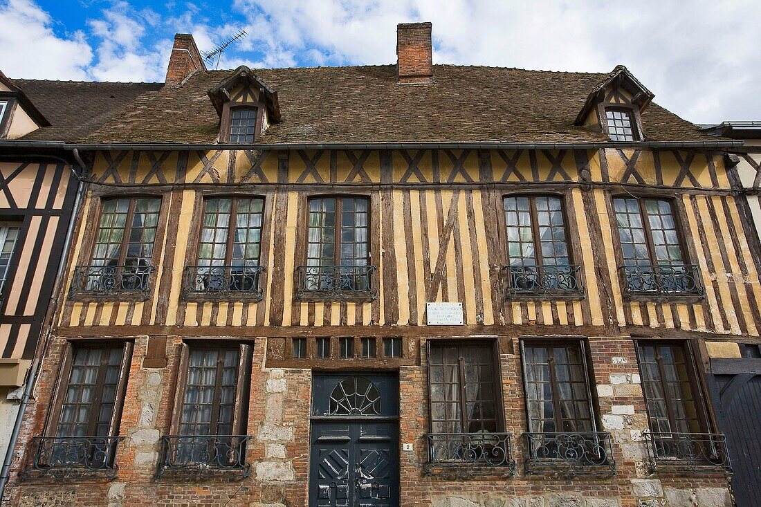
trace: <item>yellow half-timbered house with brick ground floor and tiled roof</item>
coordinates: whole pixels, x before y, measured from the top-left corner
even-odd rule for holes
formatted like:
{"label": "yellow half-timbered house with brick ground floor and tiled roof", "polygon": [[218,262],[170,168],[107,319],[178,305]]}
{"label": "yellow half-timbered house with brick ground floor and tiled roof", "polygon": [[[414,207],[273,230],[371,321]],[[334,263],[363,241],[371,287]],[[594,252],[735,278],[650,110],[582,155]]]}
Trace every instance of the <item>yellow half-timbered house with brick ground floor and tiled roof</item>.
{"label": "yellow half-timbered house with brick ground floor and tiled roof", "polygon": [[756,505],[709,397],[761,345],[743,142],[623,66],[396,51],[180,34],[93,129],[0,141],[84,164],[9,505]]}

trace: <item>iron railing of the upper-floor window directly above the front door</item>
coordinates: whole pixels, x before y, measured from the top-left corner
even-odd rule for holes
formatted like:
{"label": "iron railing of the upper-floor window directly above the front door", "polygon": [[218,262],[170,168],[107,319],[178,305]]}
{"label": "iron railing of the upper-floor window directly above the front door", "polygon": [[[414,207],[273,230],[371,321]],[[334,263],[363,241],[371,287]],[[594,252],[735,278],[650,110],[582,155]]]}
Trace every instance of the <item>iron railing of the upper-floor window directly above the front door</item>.
{"label": "iron railing of the upper-floor window directly above the front door", "polygon": [[375,266],[298,266],[296,298],[302,301],[371,301],[377,298]]}

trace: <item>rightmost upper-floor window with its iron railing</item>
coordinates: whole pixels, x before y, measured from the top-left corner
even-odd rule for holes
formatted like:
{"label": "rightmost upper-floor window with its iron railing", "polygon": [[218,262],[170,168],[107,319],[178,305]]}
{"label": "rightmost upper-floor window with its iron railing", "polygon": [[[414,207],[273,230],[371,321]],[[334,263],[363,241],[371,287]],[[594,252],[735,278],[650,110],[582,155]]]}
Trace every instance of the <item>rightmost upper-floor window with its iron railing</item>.
{"label": "rightmost upper-floor window with its iron railing", "polygon": [[673,205],[665,199],[613,199],[629,292],[700,292],[696,266],[687,266]]}

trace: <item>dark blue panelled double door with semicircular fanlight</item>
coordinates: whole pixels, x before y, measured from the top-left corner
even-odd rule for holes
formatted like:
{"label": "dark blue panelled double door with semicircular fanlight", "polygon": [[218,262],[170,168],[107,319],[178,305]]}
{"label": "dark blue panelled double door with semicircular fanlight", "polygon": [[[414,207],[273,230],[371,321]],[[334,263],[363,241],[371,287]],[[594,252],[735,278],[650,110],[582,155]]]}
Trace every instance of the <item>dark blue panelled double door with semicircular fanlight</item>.
{"label": "dark blue panelled double door with semicircular fanlight", "polygon": [[385,375],[316,375],[309,505],[399,505],[399,387]]}

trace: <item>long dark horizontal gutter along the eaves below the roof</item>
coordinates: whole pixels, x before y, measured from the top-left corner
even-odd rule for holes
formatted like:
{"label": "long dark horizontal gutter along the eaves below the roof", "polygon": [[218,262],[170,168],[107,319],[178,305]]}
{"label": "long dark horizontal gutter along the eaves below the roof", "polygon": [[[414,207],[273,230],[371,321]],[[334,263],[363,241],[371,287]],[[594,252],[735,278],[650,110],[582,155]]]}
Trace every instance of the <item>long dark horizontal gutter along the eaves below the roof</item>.
{"label": "long dark horizontal gutter along the eaves below the roof", "polygon": [[301,143],[248,143],[248,144],[188,144],[172,142],[137,142],[137,143],[67,143],[56,141],[19,141],[2,140],[0,148],[57,148],[67,151],[116,151],[116,150],[381,150],[381,149],[601,149],[601,148],[737,148],[743,141],[603,141],[603,142],[301,142]]}

